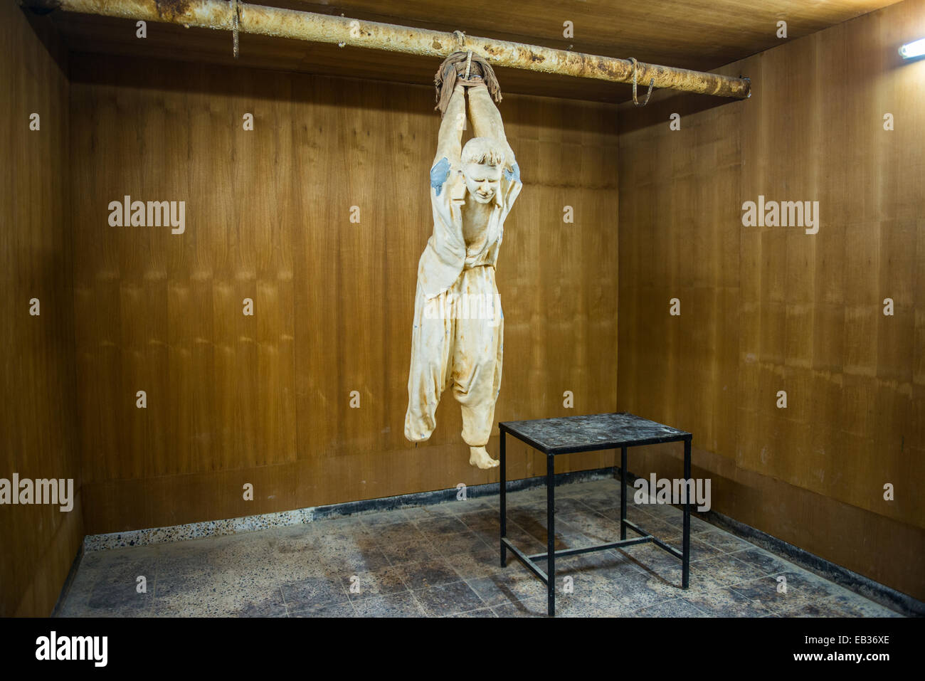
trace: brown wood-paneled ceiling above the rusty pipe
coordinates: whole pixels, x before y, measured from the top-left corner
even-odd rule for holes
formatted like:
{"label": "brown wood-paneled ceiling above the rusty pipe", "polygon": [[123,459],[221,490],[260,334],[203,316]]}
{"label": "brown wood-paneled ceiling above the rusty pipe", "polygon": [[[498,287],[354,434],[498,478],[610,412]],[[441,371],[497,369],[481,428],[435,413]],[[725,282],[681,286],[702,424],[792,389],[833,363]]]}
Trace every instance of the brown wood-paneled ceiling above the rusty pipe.
{"label": "brown wood-paneled ceiling above the rusty pipe", "polygon": [[[315,3],[265,0],[258,4],[438,31],[628,57],[665,66],[710,70],[783,42],[777,22],[787,22],[787,40],[853,19],[896,0],[346,0]],[[54,12],[49,15],[72,52],[150,56],[216,64],[235,63],[228,31],[148,24],[148,37],[135,37],[134,22]],[[573,22],[572,38],[562,37]],[[432,85],[438,62],[336,45],[240,36],[241,66],[326,73],[348,78]],[[743,74],[748,75],[748,74]],[[623,102],[629,86],[499,68],[503,92]]]}

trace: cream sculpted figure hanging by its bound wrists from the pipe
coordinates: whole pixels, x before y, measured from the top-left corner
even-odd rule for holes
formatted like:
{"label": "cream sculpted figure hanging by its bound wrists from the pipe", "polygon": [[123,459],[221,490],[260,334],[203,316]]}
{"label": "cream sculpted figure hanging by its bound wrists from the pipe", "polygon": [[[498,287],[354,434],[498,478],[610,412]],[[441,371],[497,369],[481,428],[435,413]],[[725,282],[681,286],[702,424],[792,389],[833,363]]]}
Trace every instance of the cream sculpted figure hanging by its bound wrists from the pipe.
{"label": "cream sculpted figure hanging by its bound wrists from the pipe", "polygon": [[[495,264],[504,219],[522,188],[520,168],[492,102],[492,94],[499,100],[500,93],[487,62],[451,55],[437,84],[444,116],[430,170],[434,231],[417,270],[405,438],[430,438],[440,395],[451,387],[462,409],[469,463],[493,468],[499,462],[485,448],[500,390],[504,333]],[[466,91],[475,137],[461,149]]]}

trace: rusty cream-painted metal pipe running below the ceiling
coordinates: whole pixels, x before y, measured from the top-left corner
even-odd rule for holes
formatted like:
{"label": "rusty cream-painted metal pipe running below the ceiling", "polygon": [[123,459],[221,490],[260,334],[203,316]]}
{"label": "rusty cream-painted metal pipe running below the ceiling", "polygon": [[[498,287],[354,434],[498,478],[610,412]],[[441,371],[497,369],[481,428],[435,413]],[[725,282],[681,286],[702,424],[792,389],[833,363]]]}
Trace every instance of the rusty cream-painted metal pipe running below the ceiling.
{"label": "rusty cream-painted metal pipe running below the ceiling", "polygon": [[[232,29],[232,3],[223,0],[20,0],[36,11],[61,10],[105,17],[162,21],[206,29]],[[459,32],[428,31],[406,26],[332,17],[279,7],[239,3],[242,33],[291,38],[313,43],[338,43],[409,55],[443,58],[458,50],[472,50],[492,66],[524,68],[577,78],[633,82],[633,63],[611,56],[584,55],[524,43],[491,40]],[[745,99],[749,81],[687,68],[638,63],[636,80],[686,93],[715,94]]]}

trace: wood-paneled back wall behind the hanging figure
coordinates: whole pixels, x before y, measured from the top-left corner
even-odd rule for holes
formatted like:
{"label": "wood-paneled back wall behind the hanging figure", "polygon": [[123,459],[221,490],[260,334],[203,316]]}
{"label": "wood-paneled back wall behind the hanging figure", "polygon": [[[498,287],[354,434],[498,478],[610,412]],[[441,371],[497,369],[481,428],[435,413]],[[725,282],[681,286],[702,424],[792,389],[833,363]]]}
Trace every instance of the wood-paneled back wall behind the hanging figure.
{"label": "wood-paneled back wall behind the hanging figure", "polygon": [[[86,55],[71,75],[88,534],[498,479],[468,464],[450,392],[429,442],[403,437],[432,89]],[[511,95],[500,109],[524,191],[499,258],[496,420],[613,411],[613,108]],[[185,233],[109,226],[127,194],[185,201]],[[545,470],[510,452],[510,477]],[[612,464],[612,452],[561,462]]]}

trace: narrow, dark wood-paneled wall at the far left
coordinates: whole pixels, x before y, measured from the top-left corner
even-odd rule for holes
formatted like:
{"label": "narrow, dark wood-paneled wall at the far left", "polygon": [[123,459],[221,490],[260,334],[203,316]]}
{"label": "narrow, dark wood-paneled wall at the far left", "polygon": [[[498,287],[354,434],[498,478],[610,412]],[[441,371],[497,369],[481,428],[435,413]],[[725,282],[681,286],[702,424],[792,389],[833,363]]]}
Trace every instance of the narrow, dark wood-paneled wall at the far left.
{"label": "narrow, dark wood-paneled wall at the far left", "polygon": [[[47,24],[0,4],[0,477],[73,478],[70,512],[0,506],[0,616],[52,613],[83,539],[68,222],[68,74]],[[30,130],[31,114],[39,130]],[[39,316],[30,315],[31,299]]]}

